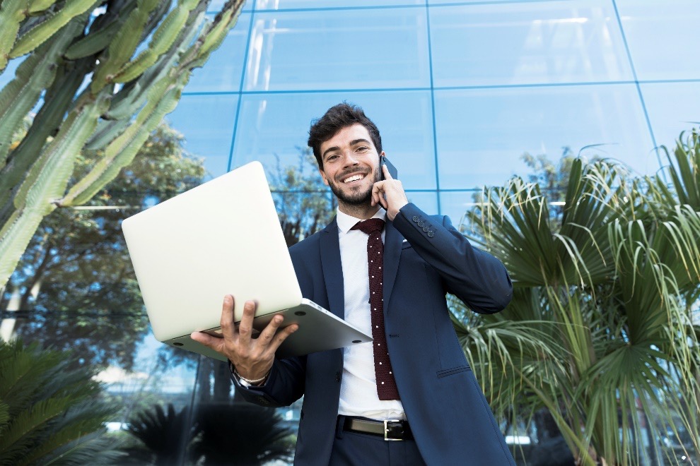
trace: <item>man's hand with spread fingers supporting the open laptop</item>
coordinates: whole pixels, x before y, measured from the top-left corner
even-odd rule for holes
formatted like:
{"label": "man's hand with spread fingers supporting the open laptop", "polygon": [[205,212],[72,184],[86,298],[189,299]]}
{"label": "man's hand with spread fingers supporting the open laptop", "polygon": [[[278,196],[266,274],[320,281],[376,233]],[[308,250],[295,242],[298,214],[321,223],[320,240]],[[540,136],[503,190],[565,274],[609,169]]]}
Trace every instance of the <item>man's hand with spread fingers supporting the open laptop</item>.
{"label": "man's hand with spread fingers supporting the open laptop", "polygon": [[221,309],[221,335],[223,338],[203,332],[193,332],[190,336],[192,340],[214,349],[231,360],[241,377],[250,380],[264,378],[272,368],[274,353],[279,345],[286,340],[286,337],[296,332],[299,326],[295,323],[277,332],[284,317],[274,316],[260,335],[253,338],[252,321],[255,317],[255,301],[245,301],[243,318],[240,320],[238,330],[233,322],[233,307],[233,296],[227,294],[223,298],[223,308]]}

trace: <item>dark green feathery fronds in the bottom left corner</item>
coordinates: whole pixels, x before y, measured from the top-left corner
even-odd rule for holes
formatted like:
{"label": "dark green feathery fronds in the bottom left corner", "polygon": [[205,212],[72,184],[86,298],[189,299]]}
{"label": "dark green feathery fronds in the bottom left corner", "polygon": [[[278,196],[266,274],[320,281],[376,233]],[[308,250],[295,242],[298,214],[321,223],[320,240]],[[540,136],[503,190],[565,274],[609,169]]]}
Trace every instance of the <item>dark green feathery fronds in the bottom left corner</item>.
{"label": "dark green feathery fronds in the bottom left corner", "polygon": [[104,422],[119,407],[100,401],[93,371],[69,369],[72,356],[0,342],[0,464],[114,462]]}

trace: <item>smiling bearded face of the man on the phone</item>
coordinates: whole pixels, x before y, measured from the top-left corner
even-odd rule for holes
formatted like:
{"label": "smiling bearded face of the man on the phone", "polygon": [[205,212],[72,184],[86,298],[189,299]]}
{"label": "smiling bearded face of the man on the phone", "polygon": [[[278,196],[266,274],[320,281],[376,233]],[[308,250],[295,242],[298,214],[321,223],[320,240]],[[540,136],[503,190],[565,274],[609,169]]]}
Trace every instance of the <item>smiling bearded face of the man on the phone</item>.
{"label": "smiling bearded face of the man on the phone", "polygon": [[367,129],[361,124],[346,126],[321,144],[323,182],[339,203],[370,203],[372,186],[379,181],[379,154]]}

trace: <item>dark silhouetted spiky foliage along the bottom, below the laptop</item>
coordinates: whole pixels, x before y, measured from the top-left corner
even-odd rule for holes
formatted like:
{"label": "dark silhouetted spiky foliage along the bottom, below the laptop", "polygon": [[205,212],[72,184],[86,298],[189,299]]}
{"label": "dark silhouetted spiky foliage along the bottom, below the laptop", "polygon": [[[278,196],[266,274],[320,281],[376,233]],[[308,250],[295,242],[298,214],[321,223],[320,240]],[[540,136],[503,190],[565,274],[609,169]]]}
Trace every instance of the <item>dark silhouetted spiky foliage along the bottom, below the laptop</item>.
{"label": "dark silhouetted spiky foliage along the bottom, below the laptop", "polygon": [[189,409],[175,411],[156,405],[153,412],[138,414],[127,431],[143,441],[156,465],[177,464],[185,458],[203,465],[260,465],[272,460],[290,460],[291,432],[271,408],[248,403],[199,405],[194,422]]}

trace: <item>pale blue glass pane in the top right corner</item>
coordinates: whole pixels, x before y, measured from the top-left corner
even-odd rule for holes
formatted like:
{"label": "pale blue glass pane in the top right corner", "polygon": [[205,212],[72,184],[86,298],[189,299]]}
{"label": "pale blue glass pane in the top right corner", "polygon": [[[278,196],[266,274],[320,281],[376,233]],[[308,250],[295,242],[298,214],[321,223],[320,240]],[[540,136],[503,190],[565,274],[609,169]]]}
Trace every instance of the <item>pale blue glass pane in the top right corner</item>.
{"label": "pale blue glass pane in the top right corner", "polygon": [[700,62],[694,59],[700,2],[617,0],[617,8],[640,80],[700,78]]}

